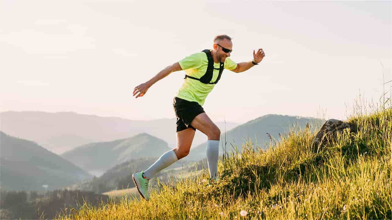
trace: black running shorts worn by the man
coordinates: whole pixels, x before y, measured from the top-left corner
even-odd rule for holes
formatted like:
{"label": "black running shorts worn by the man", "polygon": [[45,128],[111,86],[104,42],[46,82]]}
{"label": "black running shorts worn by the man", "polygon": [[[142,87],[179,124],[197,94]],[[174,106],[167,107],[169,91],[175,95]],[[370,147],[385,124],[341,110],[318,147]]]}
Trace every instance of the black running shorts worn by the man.
{"label": "black running shorts worn by the man", "polygon": [[205,112],[198,102],[189,102],[178,97],[174,97],[173,109],[177,117],[177,132],[187,128],[192,128],[196,131],[192,127],[191,122],[198,114]]}

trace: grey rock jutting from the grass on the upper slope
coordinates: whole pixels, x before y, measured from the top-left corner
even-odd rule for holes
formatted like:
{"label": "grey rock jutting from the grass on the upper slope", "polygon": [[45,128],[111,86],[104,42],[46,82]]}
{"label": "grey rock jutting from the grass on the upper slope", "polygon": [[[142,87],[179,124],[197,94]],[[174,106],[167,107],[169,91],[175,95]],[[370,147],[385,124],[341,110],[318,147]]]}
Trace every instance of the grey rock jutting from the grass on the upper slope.
{"label": "grey rock jutting from the grass on the upper slope", "polygon": [[314,138],[313,149],[318,152],[329,141],[336,140],[338,132],[343,132],[347,128],[350,129],[350,132],[356,132],[356,125],[353,123],[346,123],[336,119],[327,120]]}

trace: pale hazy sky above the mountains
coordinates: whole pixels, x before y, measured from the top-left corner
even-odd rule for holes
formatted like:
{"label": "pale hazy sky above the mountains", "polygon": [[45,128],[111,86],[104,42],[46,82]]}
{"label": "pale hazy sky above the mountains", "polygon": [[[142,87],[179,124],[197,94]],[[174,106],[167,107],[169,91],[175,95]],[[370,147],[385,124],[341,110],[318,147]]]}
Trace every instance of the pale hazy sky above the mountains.
{"label": "pale hazy sky above the mountains", "polygon": [[359,90],[377,101],[382,72],[391,80],[391,11],[391,1],[2,0],[0,111],[173,118],[183,71],[141,98],[134,87],[227,34],[236,63],[258,48],[266,57],[246,72],[223,72],[203,106],[212,120],[344,119]]}

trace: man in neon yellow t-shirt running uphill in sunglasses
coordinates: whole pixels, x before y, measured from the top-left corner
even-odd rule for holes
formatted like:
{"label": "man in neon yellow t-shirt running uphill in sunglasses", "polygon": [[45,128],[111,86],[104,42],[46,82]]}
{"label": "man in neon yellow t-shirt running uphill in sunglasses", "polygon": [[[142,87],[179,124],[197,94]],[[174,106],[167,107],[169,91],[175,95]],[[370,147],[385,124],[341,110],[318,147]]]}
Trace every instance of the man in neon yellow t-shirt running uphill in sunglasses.
{"label": "man in neon yellow t-shirt running uphill in sunglasses", "polygon": [[143,97],[147,90],[158,80],[163,79],[172,72],[184,70],[185,80],[173,100],[173,108],[177,117],[177,147],[162,154],[162,156],[146,171],[132,174],[133,181],[139,194],[148,200],[147,188],[151,179],[160,170],[166,168],[179,159],[187,156],[191,149],[196,129],[207,135],[207,162],[210,180],[216,181],[218,176],[218,155],[220,130],[211,121],[203,110],[207,95],[219,81],[223,68],[236,73],[248,70],[258,65],[264,51],[260,48],[253,50],[253,60],[243,63],[234,63],[230,59],[232,41],[227,35],[218,35],[214,38],[213,50],[203,50],[185,57],[181,61],[167,66],[149,81],[134,88],[135,98]]}

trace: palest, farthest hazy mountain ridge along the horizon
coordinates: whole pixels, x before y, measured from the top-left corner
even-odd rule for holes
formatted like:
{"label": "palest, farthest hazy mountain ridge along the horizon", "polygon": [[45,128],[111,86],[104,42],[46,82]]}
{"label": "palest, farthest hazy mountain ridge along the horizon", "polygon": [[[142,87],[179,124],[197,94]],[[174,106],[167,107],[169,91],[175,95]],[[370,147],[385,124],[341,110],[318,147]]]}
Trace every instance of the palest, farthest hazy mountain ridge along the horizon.
{"label": "palest, farthest hazy mountain ridge along the horizon", "polygon": [[[174,112],[173,112],[174,114]],[[176,147],[176,118],[159,120],[129,120],[100,117],[74,112],[46,113],[40,111],[7,111],[0,113],[1,131],[19,138],[32,140],[56,154],[91,142],[112,141],[146,132]],[[224,131],[238,123],[217,122]],[[196,131],[192,147],[207,140]]]}

